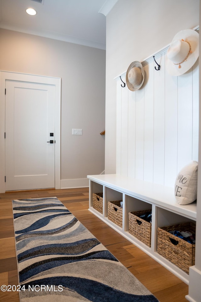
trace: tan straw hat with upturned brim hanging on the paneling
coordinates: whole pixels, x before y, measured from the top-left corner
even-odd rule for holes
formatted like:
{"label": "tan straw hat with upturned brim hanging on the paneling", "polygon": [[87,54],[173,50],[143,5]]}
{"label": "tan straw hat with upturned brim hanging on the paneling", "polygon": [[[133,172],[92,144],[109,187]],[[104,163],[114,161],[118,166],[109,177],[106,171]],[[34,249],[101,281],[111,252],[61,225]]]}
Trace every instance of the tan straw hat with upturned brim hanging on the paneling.
{"label": "tan straw hat with upturned brim hanging on the paneling", "polygon": [[139,61],[134,61],[128,66],[126,84],[131,91],[138,90],[144,82],[144,69]]}

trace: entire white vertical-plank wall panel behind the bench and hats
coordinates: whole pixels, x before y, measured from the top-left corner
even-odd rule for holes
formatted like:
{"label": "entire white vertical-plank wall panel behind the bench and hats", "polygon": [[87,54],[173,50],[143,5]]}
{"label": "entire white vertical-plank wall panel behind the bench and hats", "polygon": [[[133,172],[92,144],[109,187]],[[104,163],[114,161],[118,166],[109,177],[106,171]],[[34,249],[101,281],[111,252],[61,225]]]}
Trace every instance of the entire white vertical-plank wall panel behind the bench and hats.
{"label": "entire white vertical-plank wall panel behind the bench and hats", "polygon": [[166,50],[155,56],[159,71],[152,58],[142,62],[145,80],[136,92],[117,78],[116,173],[174,187],[181,168],[198,160],[199,70],[196,62],[169,75]]}

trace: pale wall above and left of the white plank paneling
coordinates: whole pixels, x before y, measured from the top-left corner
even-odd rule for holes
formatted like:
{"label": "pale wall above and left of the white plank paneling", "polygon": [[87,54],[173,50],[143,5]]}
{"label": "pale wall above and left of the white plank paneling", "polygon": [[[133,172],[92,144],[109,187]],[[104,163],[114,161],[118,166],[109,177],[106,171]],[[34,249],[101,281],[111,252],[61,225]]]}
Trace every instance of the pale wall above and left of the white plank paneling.
{"label": "pale wall above and left of the white plank paneling", "polygon": [[[119,0],[106,17],[105,172],[116,172],[116,81],[133,61],[143,61],[175,34],[199,24],[198,0]],[[128,125],[129,126],[129,125]]]}

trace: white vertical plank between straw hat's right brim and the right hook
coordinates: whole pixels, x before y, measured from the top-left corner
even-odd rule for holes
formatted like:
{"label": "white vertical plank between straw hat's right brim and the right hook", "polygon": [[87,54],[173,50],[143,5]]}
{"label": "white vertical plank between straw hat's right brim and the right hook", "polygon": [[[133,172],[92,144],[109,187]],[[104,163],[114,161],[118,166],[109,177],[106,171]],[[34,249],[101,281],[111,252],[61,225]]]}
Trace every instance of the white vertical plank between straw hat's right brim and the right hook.
{"label": "white vertical plank between straw hat's right brim and the right hook", "polygon": [[144,180],[153,182],[154,165],[154,62],[144,66]]}

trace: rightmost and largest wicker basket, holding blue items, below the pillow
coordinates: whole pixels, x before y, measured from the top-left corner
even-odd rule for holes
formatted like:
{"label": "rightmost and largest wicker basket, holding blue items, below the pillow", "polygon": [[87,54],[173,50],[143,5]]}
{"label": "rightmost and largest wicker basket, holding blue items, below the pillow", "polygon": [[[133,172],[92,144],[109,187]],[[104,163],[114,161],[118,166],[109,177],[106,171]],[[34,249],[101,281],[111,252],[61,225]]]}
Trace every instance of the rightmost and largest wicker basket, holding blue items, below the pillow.
{"label": "rightmost and largest wicker basket, holding blue items, below the pillow", "polygon": [[189,266],[195,264],[195,244],[188,243],[169,231],[188,231],[195,234],[195,223],[158,227],[158,253],[188,274]]}

